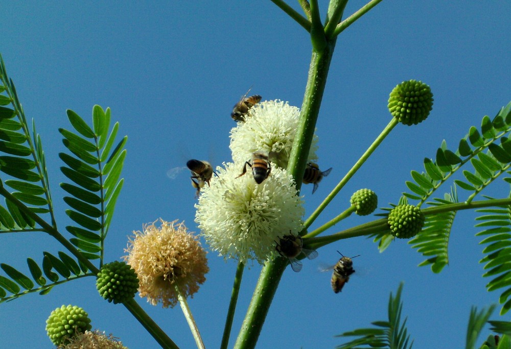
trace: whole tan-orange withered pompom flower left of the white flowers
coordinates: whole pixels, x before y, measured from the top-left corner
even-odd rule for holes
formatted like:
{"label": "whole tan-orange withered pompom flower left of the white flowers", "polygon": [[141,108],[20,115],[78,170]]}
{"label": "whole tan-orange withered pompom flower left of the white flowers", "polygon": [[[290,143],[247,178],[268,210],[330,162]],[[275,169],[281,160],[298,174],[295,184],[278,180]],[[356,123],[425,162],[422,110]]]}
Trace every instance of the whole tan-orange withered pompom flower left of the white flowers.
{"label": "whole tan-orange withered pompom flower left of the white flowers", "polygon": [[124,259],[138,275],[138,294],[152,305],[161,302],[168,308],[178,301],[174,283],[184,297],[193,297],[210,269],[198,238],[183,223],[160,221],[160,228],[153,222],[144,232],[134,232]]}

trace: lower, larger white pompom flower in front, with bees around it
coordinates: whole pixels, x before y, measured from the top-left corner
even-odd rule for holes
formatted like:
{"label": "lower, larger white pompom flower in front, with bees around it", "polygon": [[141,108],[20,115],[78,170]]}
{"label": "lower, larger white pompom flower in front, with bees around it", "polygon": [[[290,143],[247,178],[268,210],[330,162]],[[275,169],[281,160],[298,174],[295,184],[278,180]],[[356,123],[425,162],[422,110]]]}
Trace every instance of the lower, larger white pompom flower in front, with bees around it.
{"label": "lower, larger white pompom flower in front, with bees around it", "polygon": [[243,166],[224,166],[217,167],[211,186],[203,188],[195,221],[213,251],[262,264],[275,254],[278,237],[301,230],[303,202],[286,170],[272,166],[268,178],[257,184],[251,171],[237,178]]}

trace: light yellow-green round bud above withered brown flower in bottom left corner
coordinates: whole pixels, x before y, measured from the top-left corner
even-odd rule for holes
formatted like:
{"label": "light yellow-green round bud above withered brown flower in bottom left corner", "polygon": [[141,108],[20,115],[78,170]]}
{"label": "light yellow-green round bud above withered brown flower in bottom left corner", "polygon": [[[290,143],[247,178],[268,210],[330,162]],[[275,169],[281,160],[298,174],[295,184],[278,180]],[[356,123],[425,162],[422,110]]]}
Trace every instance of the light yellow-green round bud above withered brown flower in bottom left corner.
{"label": "light yellow-green round bud above withered brown flower in bottom left corner", "polygon": [[48,337],[55,345],[91,328],[88,314],[82,308],[72,305],[55,309],[46,320]]}

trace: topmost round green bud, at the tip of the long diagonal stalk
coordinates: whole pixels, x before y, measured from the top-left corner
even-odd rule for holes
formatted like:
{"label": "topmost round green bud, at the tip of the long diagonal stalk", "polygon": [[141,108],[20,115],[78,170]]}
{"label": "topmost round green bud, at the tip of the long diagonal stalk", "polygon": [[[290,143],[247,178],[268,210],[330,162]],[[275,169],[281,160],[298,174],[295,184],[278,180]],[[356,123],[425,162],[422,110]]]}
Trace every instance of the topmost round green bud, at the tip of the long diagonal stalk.
{"label": "topmost round green bud, at the tip of the long diagonal stalk", "polygon": [[388,98],[390,114],[405,125],[426,120],[433,109],[431,88],[421,81],[403,81],[394,87]]}

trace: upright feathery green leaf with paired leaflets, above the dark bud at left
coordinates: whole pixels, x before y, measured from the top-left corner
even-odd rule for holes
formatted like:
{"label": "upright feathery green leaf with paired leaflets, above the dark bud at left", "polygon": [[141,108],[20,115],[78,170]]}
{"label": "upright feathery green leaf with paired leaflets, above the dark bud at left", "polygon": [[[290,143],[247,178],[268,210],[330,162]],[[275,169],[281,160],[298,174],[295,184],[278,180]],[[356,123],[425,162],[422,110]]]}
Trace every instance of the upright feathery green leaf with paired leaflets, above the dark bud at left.
{"label": "upright feathery green leaf with paired leaflets, above the dark bud at left", "polygon": [[92,128],[72,110],[67,111],[67,117],[76,132],[59,130],[71,153],[60,153],[59,157],[66,165],[61,167],[62,173],[73,183],[61,183],[61,187],[71,195],[64,197],[70,207],[65,212],[77,226],[68,226],[66,230],[74,235],[69,241],[86,258],[97,259],[102,255],[103,241],[122,188],[126,137],[113,147],[119,126],[116,123],[108,135],[110,109],[104,111],[94,106]]}

